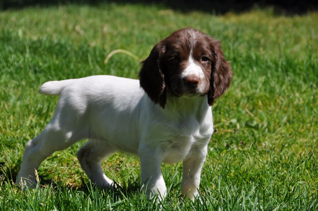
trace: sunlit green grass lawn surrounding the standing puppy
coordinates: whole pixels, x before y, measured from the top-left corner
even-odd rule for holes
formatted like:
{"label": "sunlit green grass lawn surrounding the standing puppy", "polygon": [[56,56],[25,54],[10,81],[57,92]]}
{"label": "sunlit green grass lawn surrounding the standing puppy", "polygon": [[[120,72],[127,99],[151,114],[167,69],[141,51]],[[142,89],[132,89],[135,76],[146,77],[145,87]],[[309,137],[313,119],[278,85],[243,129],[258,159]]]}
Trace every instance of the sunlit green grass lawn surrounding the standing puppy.
{"label": "sunlit green grass lawn surrounding the standing puppy", "polygon": [[[157,4],[66,5],[0,12],[0,208],[3,210],[317,210],[318,13],[273,10],[215,16]],[[116,153],[105,173],[123,184],[93,187],[76,159],[85,141],[45,160],[36,189],[13,183],[26,142],[53,115],[58,97],[37,93],[46,81],[97,74],[136,78],[140,65],[171,32],[193,27],[221,39],[235,73],[213,105],[200,192],[180,200],[181,163],[162,165],[169,193],[162,206],[139,191],[137,157]]]}

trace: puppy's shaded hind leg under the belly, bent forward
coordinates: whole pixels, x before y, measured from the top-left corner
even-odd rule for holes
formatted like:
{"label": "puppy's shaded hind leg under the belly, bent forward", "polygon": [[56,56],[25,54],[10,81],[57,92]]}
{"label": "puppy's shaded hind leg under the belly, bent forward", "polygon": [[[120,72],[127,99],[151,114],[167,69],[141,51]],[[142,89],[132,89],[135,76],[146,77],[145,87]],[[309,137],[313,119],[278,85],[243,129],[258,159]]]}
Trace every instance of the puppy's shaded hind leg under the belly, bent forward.
{"label": "puppy's shaded hind leg under the belly, bent forward", "polygon": [[89,140],[78,152],[77,158],[81,167],[91,181],[98,187],[114,187],[113,180],[109,179],[101,168],[101,160],[117,150],[106,141]]}

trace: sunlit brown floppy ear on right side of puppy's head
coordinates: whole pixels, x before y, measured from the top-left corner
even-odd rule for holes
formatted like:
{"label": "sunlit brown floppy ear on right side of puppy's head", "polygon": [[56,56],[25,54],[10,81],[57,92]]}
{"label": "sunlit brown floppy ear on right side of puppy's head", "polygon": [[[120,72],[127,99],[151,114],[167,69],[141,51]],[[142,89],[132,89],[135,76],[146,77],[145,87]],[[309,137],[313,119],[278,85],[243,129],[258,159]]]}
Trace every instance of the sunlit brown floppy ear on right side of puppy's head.
{"label": "sunlit brown floppy ear on right side of puppy's head", "polygon": [[220,41],[211,40],[210,44],[213,49],[214,64],[212,64],[208,104],[213,105],[215,99],[219,98],[229,88],[232,71],[230,63],[224,58]]}

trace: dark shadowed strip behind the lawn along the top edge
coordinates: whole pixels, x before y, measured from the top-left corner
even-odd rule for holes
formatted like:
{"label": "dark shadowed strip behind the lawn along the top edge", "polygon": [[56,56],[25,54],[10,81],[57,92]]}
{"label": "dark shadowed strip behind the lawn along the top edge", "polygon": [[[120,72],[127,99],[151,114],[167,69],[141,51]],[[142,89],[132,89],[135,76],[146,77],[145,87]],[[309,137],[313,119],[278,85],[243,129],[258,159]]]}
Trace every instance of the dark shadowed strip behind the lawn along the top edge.
{"label": "dark shadowed strip behind the lawn along the top edge", "polygon": [[308,11],[317,10],[318,1],[317,0],[223,0],[223,1],[212,1],[212,0],[118,0],[118,1],[102,1],[102,0],[69,0],[69,1],[60,1],[60,0],[7,0],[0,1],[0,10],[8,10],[8,9],[18,9],[24,8],[28,6],[49,6],[49,5],[63,5],[67,3],[78,3],[78,4],[92,4],[98,5],[102,2],[115,2],[115,3],[142,3],[142,4],[152,4],[152,3],[160,3],[168,8],[173,10],[180,10],[183,12],[189,12],[193,10],[200,10],[206,12],[212,12],[215,14],[224,14],[229,11],[233,12],[243,12],[246,10],[250,10],[253,7],[266,8],[272,7],[274,9],[275,14],[304,14]]}

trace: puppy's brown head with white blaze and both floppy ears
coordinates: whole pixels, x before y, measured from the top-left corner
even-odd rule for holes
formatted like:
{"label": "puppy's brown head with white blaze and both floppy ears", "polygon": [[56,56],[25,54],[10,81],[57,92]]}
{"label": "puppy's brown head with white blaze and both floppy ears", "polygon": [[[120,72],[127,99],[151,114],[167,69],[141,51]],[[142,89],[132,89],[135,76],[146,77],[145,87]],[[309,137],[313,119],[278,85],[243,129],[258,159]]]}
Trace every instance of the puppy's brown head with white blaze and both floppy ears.
{"label": "puppy's brown head with white blaze and both floppy ears", "polygon": [[164,108],[167,92],[176,97],[207,95],[212,105],[230,86],[231,66],[218,40],[191,28],[160,41],[142,62],[140,86]]}

